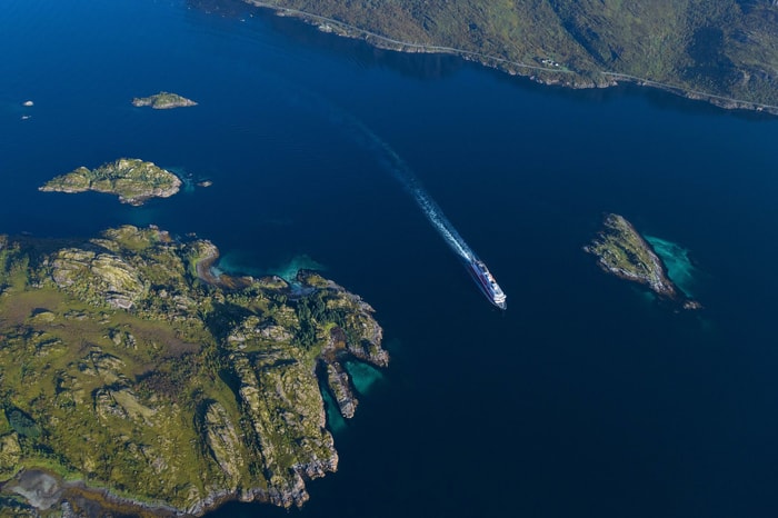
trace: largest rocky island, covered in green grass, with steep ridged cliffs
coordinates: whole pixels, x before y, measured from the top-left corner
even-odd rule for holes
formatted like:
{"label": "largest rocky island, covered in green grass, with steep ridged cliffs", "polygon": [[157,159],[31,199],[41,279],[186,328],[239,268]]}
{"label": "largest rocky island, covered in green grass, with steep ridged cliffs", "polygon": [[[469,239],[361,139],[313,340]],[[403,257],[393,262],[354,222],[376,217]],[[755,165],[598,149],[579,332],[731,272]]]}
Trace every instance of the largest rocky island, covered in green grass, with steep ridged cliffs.
{"label": "largest rocky island, covered in green grass, with steep ridged cliffs", "polygon": [[338,467],[322,391],[386,367],[372,308],[300,272],[215,275],[218,249],[150,227],[0,237],[0,506],[14,516],[300,506]]}

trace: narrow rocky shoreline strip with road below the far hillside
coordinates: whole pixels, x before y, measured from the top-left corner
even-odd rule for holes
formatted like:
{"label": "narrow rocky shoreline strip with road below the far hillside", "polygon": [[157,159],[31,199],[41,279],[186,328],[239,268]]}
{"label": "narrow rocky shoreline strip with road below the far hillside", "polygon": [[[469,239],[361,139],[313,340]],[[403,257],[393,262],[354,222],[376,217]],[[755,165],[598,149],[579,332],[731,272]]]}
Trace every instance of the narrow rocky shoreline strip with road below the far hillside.
{"label": "narrow rocky shoreline strip with road below the far hillside", "polygon": [[611,88],[618,87],[621,83],[631,83],[638,87],[648,87],[672,93],[690,100],[706,101],[712,106],[725,110],[744,110],[756,111],[760,113],[769,113],[778,116],[778,106],[765,104],[746,99],[736,99],[726,96],[718,96],[700,90],[691,90],[676,84],[654,81],[647,78],[630,76],[628,73],[614,72],[607,70],[598,70],[592,73],[592,78],[581,77],[580,73],[551,67],[541,67],[529,64],[520,61],[512,61],[498,56],[490,56],[472,50],[457,49],[453,47],[435,46],[426,43],[415,43],[392,39],[386,36],[371,32],[357,26],[346,23],[343,21],[327,18],[320,14],[315,14],[299,9],[291,9],[277,3],[263,2],[261,0],[243,0],[246,3],[269,9],[276,12],[279,17],[297,18],[306,23],[316,26],[323,32],[331,32],[343,38],[351,38],[366,41],[367,43],[383,50],[393,50],[397,52],[407,53],[439,53],[457,56],[466,61],[477,62],[483,67],[493,68],[506,72],[510,76],[520,76],[528,78],[531,81],[546,86],[558,86],[571,89],[594,89],[594,88]]}

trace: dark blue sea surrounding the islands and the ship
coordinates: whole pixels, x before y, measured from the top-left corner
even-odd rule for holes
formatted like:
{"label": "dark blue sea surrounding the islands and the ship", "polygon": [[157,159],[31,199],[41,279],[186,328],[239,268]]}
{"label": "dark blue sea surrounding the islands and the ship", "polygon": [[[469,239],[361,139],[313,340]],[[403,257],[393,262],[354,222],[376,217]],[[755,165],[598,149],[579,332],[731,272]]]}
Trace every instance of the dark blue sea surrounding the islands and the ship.
{"label": "dark blue sea surrounding the islands and the ship", "polygon": [[[199,106],[130,104],[160,90]],[[777,142],[777,118],[541,87],[238,2],[6,0],[0,17],[0,232],[154,223],[211,239],[222,269],[317,267],[375,307],[390,368],[291,516],[778,516]],[[119,157],[191,187],[142,208],[37,190]],[[600,271],[581,247],[607,212],[680,247],[706,309]]]}

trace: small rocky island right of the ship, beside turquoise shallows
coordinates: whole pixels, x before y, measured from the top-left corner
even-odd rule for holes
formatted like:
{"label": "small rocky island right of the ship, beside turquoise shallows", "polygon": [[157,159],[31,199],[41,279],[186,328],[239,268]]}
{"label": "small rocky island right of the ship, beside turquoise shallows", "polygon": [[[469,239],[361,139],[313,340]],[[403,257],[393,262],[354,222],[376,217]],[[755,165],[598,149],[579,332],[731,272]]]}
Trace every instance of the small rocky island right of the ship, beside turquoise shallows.
{"label": "small rocky island right of the ship, beside turquoise shallows", "polygon": [[607,215],[604,227],[597,238],[584,247],[585,251],[597,256],[602,270],[646,285],[660,298],[679,302],[685,309],[701,307],[676,287],[651,245],[622,216]]}

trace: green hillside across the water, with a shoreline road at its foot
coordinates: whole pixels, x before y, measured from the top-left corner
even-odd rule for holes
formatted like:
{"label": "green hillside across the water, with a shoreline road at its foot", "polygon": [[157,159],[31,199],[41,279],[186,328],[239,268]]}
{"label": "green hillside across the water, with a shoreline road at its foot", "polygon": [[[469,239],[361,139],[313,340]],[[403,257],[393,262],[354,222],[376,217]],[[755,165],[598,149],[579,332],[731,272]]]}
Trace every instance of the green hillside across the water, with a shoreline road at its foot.
{"label": "green hillside across the water, with a shoreline road at its foot", "polygon": [[728,107],[778,106],[774,0],[246,1],[333,19],[309,17],[381,47],[459,49],[542,82],[647,80]]}

